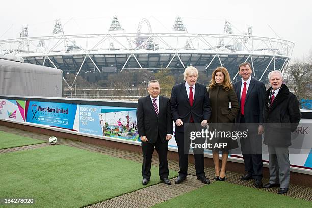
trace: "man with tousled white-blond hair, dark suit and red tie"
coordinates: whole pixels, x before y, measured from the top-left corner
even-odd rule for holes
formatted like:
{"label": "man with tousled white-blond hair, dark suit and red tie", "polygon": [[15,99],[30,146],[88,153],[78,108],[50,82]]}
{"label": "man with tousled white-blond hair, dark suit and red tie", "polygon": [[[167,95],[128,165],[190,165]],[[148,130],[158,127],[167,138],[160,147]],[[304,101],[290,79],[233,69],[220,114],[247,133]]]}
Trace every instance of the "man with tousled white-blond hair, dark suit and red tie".
{"label": "man with tousled white-blond hair, dark suit and red tie", "polygon": [[[206,126],[211,115],[211,107],[207,88],[197,83],[198,71],[195,67],[189,66],[185,69],[184,83],[175,85],[171,92],[171,111],[175,122],[175,140],[178,145],[179,176],[176,184],[183,182],[188,175],[188,153],[191,140],[184,137],[185,125],[189,123],[200,123]],[[195,169],[197,179],[204,184],[210,184],[204,172],[203,148],[194,152]]]}

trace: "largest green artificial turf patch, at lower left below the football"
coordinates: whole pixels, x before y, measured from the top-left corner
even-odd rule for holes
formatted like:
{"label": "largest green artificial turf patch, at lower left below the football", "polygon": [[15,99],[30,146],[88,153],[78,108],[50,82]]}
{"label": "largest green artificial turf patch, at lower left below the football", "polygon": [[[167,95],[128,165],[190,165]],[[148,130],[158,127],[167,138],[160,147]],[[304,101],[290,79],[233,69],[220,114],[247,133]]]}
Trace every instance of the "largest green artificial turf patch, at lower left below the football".
{"label": "largest green artificial turf patch, at lower left below the football", "polygon": [[[146,187],[141,163],[63,145],[0,154],[0,162],[0,198],[35,198],[31,207],[87,206]],[[159,183],[158,167],[151,172],[148,185]]]}

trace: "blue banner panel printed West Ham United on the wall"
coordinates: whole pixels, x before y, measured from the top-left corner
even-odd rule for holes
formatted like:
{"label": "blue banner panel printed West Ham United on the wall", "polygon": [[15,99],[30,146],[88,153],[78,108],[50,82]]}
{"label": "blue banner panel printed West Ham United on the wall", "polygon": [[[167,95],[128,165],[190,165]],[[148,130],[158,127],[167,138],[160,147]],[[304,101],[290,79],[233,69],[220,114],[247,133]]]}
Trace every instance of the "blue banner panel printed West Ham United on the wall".
{"label": "blue banner panel printed West Ham United on the wall", "polygon": [[56,102],[26,101],[26,121],[77,131],[77,105]]}

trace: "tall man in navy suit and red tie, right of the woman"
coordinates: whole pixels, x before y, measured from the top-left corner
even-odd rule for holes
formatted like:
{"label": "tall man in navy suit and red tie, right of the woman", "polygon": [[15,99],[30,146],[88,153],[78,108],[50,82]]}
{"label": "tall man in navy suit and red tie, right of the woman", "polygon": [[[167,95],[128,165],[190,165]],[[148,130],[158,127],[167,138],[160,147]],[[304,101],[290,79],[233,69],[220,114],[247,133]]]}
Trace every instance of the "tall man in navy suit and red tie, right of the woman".
{"label": "tall man in navy suit and red tie, right of the woman", "polygon": [[251,77],[250,63],[244,62],[239,66],[242,80],[233,84],[241,113],[236,118],[240,131],[246,131],[246,138],[240,138],[246,174],[241,180],[254,179],[256,187],[262,187],[262,134],[263,134],[263,101],[266,87]]}

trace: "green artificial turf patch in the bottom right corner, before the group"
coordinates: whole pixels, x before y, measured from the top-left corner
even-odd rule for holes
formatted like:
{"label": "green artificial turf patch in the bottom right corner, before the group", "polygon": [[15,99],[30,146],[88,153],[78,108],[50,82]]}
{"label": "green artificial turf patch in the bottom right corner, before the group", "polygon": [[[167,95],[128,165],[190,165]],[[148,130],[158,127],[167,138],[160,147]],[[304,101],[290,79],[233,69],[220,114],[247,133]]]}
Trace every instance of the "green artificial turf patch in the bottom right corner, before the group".
{"label": "green artificial turf patch in the bottom right corner, before the group", "polygon": [[289,196],[227,182],[210,185],[175,197],[153,207],[312,207],[312,203]]}

